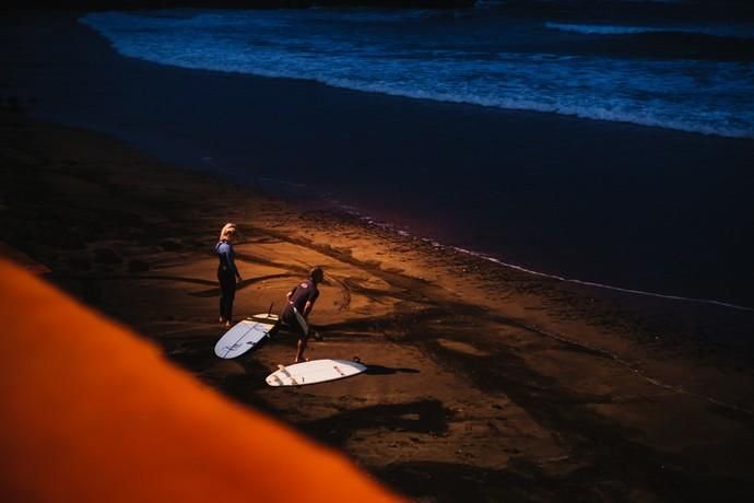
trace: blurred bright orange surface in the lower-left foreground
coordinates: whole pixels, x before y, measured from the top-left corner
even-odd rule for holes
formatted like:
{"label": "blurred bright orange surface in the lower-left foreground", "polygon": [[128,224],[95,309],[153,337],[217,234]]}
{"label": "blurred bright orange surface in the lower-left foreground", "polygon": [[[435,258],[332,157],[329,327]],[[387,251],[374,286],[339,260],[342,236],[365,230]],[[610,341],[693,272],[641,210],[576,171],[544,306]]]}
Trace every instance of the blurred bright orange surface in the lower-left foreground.
{"label": "blurred bright orange surface in the lower-left foreground", "polygon": [[3,502],[397,501],[0,260]]}

